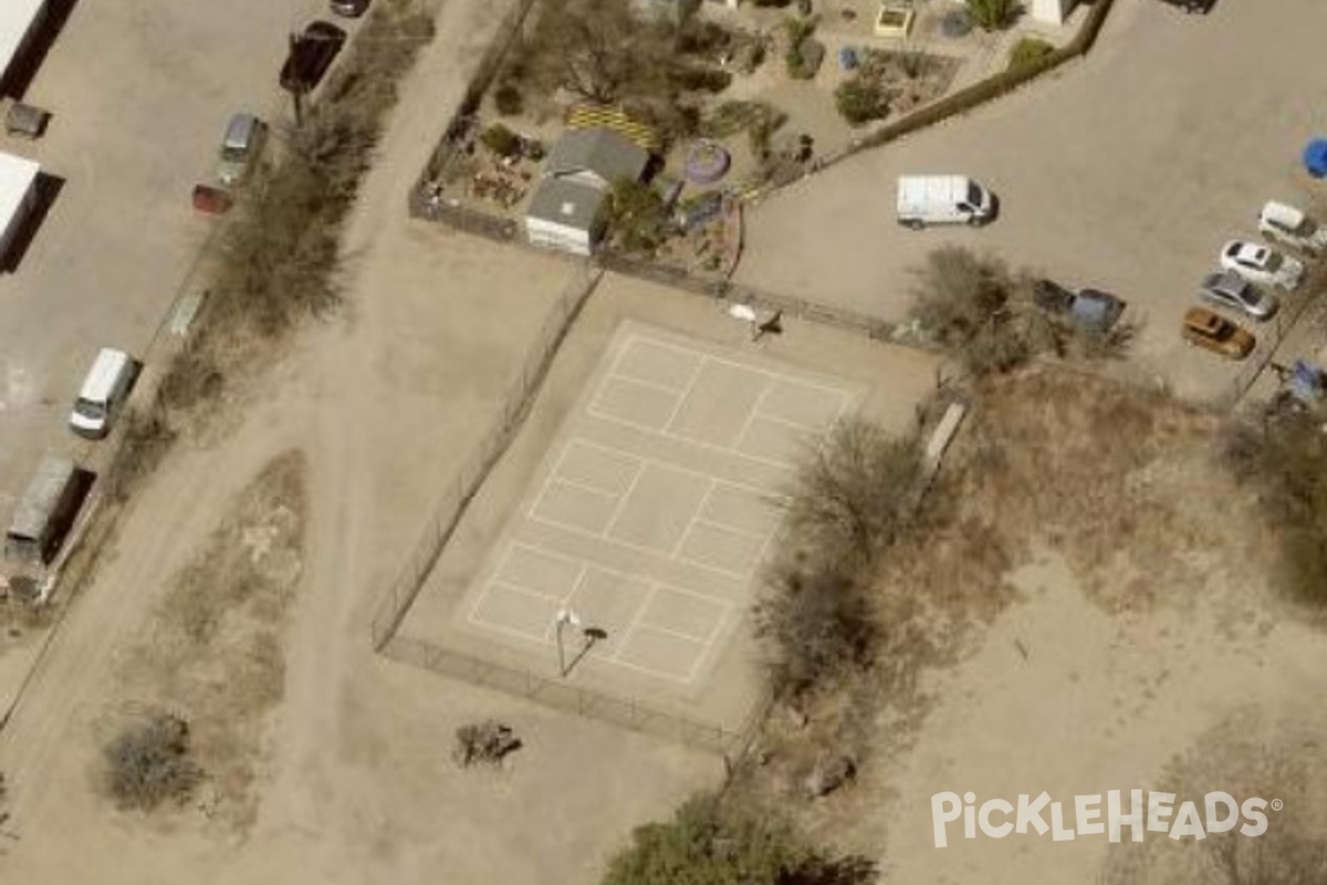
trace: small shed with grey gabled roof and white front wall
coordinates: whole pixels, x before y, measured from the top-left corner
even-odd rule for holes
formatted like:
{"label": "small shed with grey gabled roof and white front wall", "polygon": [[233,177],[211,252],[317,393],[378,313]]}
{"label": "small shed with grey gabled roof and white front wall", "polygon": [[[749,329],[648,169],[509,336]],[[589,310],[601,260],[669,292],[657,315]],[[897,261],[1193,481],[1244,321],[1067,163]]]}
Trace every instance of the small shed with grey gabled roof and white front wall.
{"label": "small shed with grey gabled roof and white front wall", "polygon": [[525,239],[532,245],[589,255],[604,234],[600,207],[613,182],[637,182],[650,154],[618,133],[573,129],[553,145],[543,180],[525,210]]}

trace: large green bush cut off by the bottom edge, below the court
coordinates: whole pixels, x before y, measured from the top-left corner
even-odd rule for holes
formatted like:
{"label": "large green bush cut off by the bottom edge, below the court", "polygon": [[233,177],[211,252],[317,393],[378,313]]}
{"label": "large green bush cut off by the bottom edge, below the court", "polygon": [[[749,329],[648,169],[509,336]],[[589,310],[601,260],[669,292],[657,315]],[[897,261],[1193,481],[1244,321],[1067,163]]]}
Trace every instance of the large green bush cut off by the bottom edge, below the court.
{"label": "large green bush cut off by the bottom edge, below the court", "polygon": [[776,813],[701,795],[666,823],[636,828],[602,885],[864,885],[871,862],[829,858]]}

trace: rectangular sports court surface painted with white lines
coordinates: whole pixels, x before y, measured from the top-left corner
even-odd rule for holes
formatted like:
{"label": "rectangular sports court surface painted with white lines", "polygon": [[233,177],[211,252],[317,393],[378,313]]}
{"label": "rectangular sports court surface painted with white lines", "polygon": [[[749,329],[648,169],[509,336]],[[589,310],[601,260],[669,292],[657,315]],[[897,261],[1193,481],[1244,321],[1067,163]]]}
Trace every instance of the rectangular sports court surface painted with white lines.
{"label": "rectangular sports court surface painted with white lines", "polygon": [[698,686],[751,602],[799,451],[860,393],[624,322],[454,617],[572,678]]}

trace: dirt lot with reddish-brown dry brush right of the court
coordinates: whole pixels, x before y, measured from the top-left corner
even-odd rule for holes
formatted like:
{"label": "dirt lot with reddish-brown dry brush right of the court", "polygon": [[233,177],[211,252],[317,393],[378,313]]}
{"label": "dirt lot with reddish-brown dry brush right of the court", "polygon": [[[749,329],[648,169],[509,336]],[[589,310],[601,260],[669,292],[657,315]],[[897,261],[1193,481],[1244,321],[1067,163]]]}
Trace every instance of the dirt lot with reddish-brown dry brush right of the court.
{"label": "dirt lot with reddish-brown dry brush right of the court", "polygon": [[[892,667],[867,689],[876,713],[847,732],[868,747],[861,783],[805,811],[819,832],[881,857],[890,878],[954,885],[1194,857],[1153,835],[1123,852],[1104,836],[966,840],[958,824],[938,849],[942,791],[1047,791],[1070,807],[1108,789],[1227,791],[1281,799],[1273,836],[1315,832],[1327,760],[1303,734],[1327,720],[1304,699],[1327,686],[1327,651],[1314,618],[1267,586],[1275,539],[1213,463],[1217,421],[1054,372],[979,395],[926,535],[880,573]],[[829,713],[807,743],[840,727]],[[807,734],[782,734],[763,770],[778,778],[805,762]]]}

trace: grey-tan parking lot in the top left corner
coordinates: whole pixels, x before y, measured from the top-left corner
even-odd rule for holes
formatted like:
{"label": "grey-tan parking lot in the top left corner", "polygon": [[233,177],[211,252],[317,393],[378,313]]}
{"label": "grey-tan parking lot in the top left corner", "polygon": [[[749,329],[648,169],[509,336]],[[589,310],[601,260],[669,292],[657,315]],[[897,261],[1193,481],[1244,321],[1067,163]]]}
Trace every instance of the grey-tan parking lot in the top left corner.
{"label": "grey-tan parking lot in the top left corner", "polygon": [[[81,0],[24,96],[40,141],[0,134],[61,180],[15,272],[0,275],[0,519],[44,451],[86,456],[64,427],[101,346],[142,353],[211,224],[190,191],[231,113],[288,113],[276,74],[314,0]],[[151,366],[149,366],[149,370]]]}

